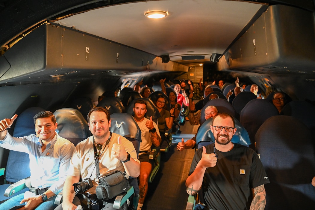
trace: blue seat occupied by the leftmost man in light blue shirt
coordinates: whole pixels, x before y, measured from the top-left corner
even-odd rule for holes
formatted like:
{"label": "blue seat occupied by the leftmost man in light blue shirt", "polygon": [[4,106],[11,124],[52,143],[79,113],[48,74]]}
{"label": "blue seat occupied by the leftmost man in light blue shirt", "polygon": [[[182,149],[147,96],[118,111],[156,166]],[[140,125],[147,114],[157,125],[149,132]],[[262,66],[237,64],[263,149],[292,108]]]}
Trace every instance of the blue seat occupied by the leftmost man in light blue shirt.
{"label": "blue seat occupied by the leftmost man in light blue shirt", "polygon": [[[40,107],[31,107],[23,111],[15,120],[16,123],[13,136],[22,137],[35,134],[33,117],[40,111],[45,110]],[[0,185],[0,202],[4,202],[10,198],[3,196],[5,190],[10,186],[10,184],[16,183],[29,176],[31,176],[29,154],[10,150],[7,166],[5,169],[5,180],[7,184]],[[14,195],[19,195],[28,190],[28,188],[24,188],[18,192],[15,192]]]}

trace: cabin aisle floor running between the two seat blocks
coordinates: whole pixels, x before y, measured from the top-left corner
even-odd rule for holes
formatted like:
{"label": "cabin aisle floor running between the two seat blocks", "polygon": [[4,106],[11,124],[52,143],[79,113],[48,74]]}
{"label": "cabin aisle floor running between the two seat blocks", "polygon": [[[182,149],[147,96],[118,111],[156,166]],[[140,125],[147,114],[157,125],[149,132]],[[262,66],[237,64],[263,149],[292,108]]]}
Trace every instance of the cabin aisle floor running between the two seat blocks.
{"label": "cabin aisle floor running between the two seat blocks", "polygon": [[192,138],[197,132],[198,125],[192,126],[188,121],[180,126],[177,135],[173,135],[170,151],[162,153],[159,172],[152,183],[148,185],[148,193],[142,210],[184,210],[186,209],[188,194],[185,182],[190,165],[195,154],[194,149],[179,152],[177,142],[181,138]]}

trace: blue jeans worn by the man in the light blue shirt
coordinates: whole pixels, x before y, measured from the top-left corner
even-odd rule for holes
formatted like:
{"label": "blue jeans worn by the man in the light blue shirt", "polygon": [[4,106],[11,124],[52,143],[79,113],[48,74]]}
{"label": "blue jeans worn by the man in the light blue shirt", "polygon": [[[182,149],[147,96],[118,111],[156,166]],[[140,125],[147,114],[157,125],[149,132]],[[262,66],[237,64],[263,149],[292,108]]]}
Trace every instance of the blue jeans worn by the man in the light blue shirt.
{"label": "blue jeans worn by the man in the light blue shirt", "polygon": [[[45,202],[41,203],[38,207],[35,208],[35,210],[54,210],[58,205],[54,204],[56,195],[50,197]],[[9,210],[10,208],[14,206],[25,206],[25,203],[20,204],[20,202],[24,199],[24,193],[20,195],[16,195],[9,200],[5,201],[4,203],[0,204],[1,210]]]}

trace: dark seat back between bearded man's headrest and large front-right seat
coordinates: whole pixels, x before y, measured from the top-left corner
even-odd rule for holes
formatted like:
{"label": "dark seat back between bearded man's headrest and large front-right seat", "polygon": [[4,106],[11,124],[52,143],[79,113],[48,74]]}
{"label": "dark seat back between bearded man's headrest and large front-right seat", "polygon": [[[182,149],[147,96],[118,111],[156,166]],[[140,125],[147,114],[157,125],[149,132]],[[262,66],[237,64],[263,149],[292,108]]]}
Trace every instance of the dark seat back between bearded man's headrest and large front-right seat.
{"label": "dark seat back between bearded man's headrest and large front-right seat", "polygon": [[267,100],[253,99],[245,105],[239,121],[247,130],[252,146],[255,145],[255,134],[259,127],[266,119],[275,115],[278,115],[277,108]]}

